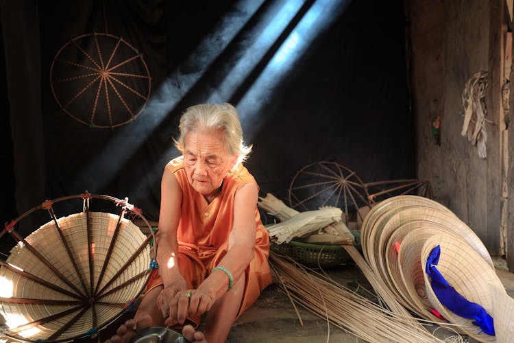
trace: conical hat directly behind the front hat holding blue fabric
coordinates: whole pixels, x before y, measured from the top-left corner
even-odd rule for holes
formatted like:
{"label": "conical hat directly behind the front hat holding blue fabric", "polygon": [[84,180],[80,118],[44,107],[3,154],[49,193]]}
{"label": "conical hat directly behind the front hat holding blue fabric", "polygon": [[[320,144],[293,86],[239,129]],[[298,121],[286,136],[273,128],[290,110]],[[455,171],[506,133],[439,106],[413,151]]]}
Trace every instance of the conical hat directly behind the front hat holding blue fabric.
{"label": "conical hat directly behind the front hat holding blue fabric", "polygon": [[426,296],[423,266],[419,257],[426,240],[434,235],[454,235],[454,239],[459,240],[462,240],[462,238],[449,232],[444,226],[423,221],[417,223],[421,224],[413,224],[417,227],[413,227],[402,238],[400,252],[397,255],[397,272],[399,275],[393,274],[396,281],[395,285],[404,290],[403,294],[407,303],[411,304],[410,308],[413,312],[421,318],[442,322],[429,311],[432,305]]}

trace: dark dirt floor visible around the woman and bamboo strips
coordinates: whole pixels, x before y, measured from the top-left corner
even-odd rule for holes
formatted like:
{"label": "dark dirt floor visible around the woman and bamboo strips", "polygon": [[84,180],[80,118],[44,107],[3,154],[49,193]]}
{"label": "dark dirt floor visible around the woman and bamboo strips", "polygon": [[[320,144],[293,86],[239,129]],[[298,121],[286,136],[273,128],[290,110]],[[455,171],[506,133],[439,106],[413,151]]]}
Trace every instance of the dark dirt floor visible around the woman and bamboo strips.
{"label": "dark dirt floor visible around the woman and bamboo strips", "polygon": [[[366,290],[371,290],[371,285],[369,285],[363,273],[351,262],[326,270],[326,272],[341,285],[376,301],[376,298]],[[497,274],[500,276],[507,292],[514,297],[514,274],[506,269],[506,263],[503,259],[495,259],[495,265]],[[227,343],[365,342],[341,328],[328,324],[326,319],[311,314],[310,311],[299,305],[297,305],[297,310],[298,314],[291,304],[291,300],[282,292],[280,285],[273,283],[262,292],[254,306],[245,311],[234,322]],[[119,323],[132,315],[133,312],[128,312],[117,322],[101,330],[95,339],[77,340],[76,342],[105,342],[114,333]],[[303,324],[300,324],[299,316],[302,318]],[[447,338],[452,335],[448,331],[440,330],[441,328],[437,326],[430,329],[432,331],[437,329],[434,332],[440,338]],[[470,338],[465,337],[465,339],[469,343],[476,342]],[[0,342],[16,341],[5,340],[0,337]]]}

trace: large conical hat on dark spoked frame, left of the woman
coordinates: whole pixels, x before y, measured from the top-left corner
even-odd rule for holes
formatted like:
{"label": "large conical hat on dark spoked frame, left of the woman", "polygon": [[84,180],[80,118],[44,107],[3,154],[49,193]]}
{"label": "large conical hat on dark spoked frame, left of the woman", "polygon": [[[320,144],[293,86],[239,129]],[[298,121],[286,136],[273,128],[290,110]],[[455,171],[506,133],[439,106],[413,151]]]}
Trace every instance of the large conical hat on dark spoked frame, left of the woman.
{"label": "large conical hat on dark spoked frame, left of the woman", "polygon": [[[80,197],[87,198],[83,212],[53,214],[53,203]],[[92,198],[116,202],[121,213],[89,211]],[[90,193],[47,200],[34,209],[47,209],[53,220],[25,238],[10,227],[19,244],[0,263],[0,314],[8,325],[3,335],[69,342],[98,333],[132,307],[152,270],[154,235],[150,226],[146,236],[125,218],[130,213],[147,223],[126,200]]]}

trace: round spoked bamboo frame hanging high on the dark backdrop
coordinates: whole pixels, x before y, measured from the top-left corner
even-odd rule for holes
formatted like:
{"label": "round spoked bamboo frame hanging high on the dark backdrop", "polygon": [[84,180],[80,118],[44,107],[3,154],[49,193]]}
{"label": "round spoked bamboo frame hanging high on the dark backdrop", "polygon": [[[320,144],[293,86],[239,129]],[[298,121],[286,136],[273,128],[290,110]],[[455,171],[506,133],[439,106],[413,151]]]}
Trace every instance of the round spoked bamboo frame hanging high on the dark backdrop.
{"label": "round spoked bamboo frame hanging high on the dark backdrop", "polygon": [[53,97],[90,128],[116,128],[140,115],[151,91],[143,56],[123,38],[83,34],[60,48],[50,69]]}

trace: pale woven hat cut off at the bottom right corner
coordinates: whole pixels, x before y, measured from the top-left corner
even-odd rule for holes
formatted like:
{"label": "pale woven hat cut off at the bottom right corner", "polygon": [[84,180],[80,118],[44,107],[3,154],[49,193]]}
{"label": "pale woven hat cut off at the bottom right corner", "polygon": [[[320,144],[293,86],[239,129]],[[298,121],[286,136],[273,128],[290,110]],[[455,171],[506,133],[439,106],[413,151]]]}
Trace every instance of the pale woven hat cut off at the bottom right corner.
{"label": "pale woven hat cut off at the bottom right corner", "polygon": [[489,284],[493,301],[494,333],[496,342],[509,343],[514,338],[514,299],[505,292],[504,287]]}

